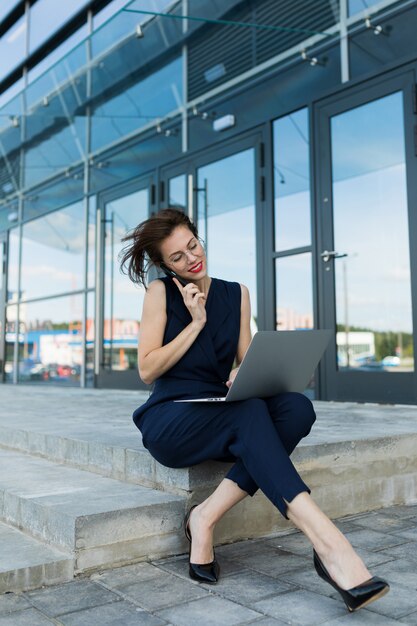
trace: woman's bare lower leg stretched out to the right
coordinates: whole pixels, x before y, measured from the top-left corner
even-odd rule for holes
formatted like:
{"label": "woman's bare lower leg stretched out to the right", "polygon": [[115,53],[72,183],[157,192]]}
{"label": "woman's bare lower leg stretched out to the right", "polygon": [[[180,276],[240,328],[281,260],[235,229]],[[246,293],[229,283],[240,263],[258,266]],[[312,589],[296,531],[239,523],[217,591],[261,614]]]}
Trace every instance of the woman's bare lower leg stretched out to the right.
{"label": "woman's bare lower leg stretched out to the right", "polygon": [[351,589],[371,577],[346,537],[307,492],[299,493],[287,505],[289,519],[311,541],[339,587]]}

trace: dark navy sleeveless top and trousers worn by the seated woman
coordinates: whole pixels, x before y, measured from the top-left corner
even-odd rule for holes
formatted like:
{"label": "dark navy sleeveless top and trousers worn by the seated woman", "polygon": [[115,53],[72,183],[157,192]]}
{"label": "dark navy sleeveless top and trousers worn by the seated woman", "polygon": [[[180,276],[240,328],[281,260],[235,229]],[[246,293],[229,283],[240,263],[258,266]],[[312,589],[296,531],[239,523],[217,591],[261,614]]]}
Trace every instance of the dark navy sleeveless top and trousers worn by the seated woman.
{"label": "dark navy sleeveless top and trousers worn by the seated woman", "polygon": [[[170,278],[163,344],[172,341],[191,315]],[[143,444],[168,467],[189,467],[212,459],[235,461],[226,477],[253,495],[261,488],[286,517],[286,503],[310,492],[289,455],[315,420],[302,394],[230,403],[177,403],[175,399],[223,396],[240,332],[239,283],[213,278],[206,301],[207,323],[184,356],[154,386],[133,413]]]}

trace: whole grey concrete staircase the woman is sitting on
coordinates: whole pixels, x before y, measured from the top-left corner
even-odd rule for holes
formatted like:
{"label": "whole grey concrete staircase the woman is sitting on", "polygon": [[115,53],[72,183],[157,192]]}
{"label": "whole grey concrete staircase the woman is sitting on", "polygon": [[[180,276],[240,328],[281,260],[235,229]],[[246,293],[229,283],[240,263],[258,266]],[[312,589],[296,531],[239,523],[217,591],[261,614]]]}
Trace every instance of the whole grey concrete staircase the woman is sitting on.
{"label": "whole grey concrete staircase the woman is sitting on", "polygon": [[[0,593],[183,553],[182,519],[229,465],[156,463],[131,421],[140,392],[0,387]],[[417,500],[417,407],[316,403],[294,463],[331,516]],[[290,527],[258,493],[216,542]]]}

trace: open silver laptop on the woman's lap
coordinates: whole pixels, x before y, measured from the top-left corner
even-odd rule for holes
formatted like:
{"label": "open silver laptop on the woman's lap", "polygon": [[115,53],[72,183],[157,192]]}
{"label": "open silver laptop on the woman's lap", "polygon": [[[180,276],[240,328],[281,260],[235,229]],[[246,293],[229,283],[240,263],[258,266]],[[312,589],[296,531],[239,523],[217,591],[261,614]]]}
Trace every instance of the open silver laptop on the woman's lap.
{"label": "open silver laptop on the woman's lap", "polygon": [[175,402],[236,402],[268,398],[285,391],[302,392],[332,335],[331,330],[259,331],[254,335],[226,396]]}

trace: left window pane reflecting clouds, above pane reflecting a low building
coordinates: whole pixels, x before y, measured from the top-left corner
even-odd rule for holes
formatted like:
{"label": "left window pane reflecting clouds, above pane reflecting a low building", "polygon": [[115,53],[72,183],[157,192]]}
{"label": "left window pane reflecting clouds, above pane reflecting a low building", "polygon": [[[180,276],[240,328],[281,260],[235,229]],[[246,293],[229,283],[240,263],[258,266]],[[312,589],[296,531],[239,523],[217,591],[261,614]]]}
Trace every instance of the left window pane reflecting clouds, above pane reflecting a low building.
{"label": "left window pane reflecting clouds, above pane reflecting a low building", "polygon": [[23,225],[24,299],[84,288],[84,231],[81,202]]}

